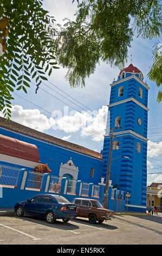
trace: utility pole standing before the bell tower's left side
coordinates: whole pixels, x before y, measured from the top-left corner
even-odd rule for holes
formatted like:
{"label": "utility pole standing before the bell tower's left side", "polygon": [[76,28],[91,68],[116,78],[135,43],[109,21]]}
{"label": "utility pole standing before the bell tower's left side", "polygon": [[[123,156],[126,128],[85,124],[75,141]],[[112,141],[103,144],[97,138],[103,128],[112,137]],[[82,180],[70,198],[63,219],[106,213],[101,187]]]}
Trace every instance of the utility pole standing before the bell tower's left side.
{"label": "utility pole standing before the bell tower's left side", "polygon": [[[122,127],[120,126],[120,129]],[[113,150],[113,138],[114,136],[114,130],[117,130],[117,128],[111,128],[111,143],[110,143],[110,150],[109,150],[109,160],[108,160],[108,168],[107,168],[107,177],[106,177],[106,185],[105,185],[105,193],[104,193],[104,199],[103,199],[103,207],[107,209],[107,201],[108,201],[108,188],[109,188],[109,175],[111,170],[111,160],[112,160],[112,150]]]}

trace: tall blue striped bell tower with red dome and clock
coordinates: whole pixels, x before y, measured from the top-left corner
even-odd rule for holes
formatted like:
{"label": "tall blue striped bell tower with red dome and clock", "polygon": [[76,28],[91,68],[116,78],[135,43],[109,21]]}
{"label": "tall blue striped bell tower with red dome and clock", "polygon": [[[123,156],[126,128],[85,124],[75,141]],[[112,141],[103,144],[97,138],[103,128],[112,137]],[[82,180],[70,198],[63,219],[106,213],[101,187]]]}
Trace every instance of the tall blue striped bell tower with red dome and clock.
{"label": "tall blue striped bell tower with red dome and clock", "polygon": [[[108,120],[114,129],[110,180],[125,190],[129,211],[146,212],[147,185],[147,83],[142,72],[130,64],[113,81],[108,105]],[[107,125],[108,126],[108,125]],[[119,129],[120,128],[120,129]],[[103,144],[106,179],[109,161],[111,130],[106,130]]]}

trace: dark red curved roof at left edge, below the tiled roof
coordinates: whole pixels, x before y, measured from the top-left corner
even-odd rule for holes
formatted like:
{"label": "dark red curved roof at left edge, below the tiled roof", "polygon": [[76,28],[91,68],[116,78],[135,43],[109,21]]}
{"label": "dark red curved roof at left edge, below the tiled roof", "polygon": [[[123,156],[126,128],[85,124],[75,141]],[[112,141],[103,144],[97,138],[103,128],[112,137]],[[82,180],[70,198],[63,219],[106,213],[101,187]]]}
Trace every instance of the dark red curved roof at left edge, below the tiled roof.
{"label": "dark red curved roof at left edge, below the tiled roof", "polygon": [[0,154],[40,163],[36,145],[0,135]]}

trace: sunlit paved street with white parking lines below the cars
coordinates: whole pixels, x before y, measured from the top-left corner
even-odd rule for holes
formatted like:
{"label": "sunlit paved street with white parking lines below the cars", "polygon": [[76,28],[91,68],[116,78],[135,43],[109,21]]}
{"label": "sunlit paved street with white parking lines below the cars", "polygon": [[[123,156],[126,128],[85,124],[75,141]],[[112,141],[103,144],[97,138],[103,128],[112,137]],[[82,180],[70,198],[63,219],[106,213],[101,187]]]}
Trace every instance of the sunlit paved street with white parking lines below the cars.
{"label": "sunlit paved street with white parking lines below the cars", "polygon": [[162,214],[120,214],[102,224],[84,218],[48,224],[41,218],[0,211],[0,245],[161,245],[161,224]]}

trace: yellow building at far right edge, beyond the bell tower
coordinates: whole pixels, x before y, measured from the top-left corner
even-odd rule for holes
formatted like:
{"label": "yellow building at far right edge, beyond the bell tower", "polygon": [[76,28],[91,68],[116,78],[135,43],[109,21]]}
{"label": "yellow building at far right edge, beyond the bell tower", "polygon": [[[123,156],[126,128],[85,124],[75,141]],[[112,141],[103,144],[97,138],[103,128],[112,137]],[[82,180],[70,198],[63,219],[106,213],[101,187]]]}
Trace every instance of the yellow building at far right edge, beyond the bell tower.
{"label": "yellow building at far right edge, beyond the bell tower", "polygon": [[147,186],[147,208],[150,205],[157,206],[158,212],[161,212],[162,206],[162,183],[152,182],[150,186]]}

